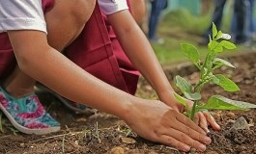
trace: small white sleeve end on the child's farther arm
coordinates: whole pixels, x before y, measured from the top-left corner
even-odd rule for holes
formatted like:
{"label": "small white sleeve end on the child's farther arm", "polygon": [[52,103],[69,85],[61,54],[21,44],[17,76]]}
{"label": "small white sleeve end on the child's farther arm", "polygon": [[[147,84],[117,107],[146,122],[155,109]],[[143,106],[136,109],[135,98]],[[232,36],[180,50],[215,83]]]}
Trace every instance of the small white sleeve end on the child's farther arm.
{"label": "small white sleeve end on the child's farther arm", "polygon": [[127,0],[98,0],[100,10],[104,14],[117,13],[128,10]]}

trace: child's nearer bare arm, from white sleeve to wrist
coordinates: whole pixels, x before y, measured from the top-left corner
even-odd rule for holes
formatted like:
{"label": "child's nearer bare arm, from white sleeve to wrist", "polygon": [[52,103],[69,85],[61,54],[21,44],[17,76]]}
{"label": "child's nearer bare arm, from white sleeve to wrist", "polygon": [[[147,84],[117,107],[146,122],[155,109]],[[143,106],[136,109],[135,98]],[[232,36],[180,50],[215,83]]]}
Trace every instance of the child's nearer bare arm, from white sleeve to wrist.
{"label": "child's nearer bare arm, from white sleeve to wrist", "polygon": [[8,34],[20,69],[51,90],[121,118],[125,118],[131,99],[138,99],[73,64],[47,44],[43,32],[13,31]]}

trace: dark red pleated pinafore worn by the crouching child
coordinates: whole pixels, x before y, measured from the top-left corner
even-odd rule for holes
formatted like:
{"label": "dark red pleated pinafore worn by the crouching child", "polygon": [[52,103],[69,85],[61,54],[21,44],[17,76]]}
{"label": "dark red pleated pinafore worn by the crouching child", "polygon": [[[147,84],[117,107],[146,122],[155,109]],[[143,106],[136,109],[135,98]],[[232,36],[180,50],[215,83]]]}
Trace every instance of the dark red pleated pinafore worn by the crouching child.
{"label": "dark red pleated pinafore worn by the crouching child", "polygon": [[[44,13],[54,6],[54,0],[43,0]],[[139,72],[130,64],[107,18],[97,3],[83,31],[64,54],[75,64],[100,80],[134,94]],[[8,35],[0,33],[0,78],[14,70],[14,51]]]}

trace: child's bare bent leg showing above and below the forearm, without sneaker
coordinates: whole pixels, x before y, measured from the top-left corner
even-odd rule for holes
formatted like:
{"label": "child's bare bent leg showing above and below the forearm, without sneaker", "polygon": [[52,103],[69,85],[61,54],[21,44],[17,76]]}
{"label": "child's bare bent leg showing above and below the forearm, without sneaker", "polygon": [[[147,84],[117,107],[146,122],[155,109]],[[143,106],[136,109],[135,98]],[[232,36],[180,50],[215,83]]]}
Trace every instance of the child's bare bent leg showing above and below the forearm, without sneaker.
{"label": "child's bare bent leg showing above and below the forearm, without sneaker", "polygon": [[[55,0],[54,7],[45,13],[48,43],[62,51],[82,31],[95,8],[95,0]],[[34,92],[35,80],[18,67],[4,82],[5,89],[14,97],[20,98]]]}

